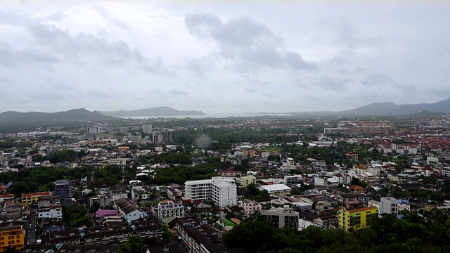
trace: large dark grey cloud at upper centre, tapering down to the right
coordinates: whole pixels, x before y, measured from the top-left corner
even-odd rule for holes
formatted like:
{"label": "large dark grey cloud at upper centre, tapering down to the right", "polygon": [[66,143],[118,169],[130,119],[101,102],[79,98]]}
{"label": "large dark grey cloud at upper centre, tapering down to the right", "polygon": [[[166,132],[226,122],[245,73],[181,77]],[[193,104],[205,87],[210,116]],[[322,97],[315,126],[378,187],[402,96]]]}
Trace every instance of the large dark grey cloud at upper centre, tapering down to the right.
{"label": "large dark grey cloud at upper centre, tapering down to the right", "polygon": [[281,38],[268,27],[250,18],[234,18],[222,22],[216,15],[192,13],[186,16],[188,31],[196,37],[213,39],[221,56],[235,62],[240,72],[270,69],[313,70],[300,53],[286,51]]}

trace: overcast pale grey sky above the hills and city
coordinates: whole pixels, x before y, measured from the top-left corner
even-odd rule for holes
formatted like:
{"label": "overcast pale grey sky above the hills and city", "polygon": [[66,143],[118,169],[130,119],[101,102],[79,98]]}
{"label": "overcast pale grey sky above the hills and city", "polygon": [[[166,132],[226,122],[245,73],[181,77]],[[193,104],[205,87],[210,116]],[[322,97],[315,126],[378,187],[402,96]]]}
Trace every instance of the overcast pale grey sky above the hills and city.
{"label": "overcast pale grey sky above the hills and city", "polygon": [[6,2],[0,111],[297,112],[450,97],[450,5],[439,1]]}

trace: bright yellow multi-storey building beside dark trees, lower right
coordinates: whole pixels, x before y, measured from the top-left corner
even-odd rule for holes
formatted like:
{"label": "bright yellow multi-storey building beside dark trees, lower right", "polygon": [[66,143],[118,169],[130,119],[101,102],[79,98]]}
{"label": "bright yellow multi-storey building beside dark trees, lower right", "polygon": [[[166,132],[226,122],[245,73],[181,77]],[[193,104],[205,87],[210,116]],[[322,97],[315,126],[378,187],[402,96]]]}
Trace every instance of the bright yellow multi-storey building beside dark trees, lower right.
{"label": "bright yellow multi-storey building beside dark trees, lower right", "polygon": [[368,228],[367,220],[371,215],[378,215],[377,207],[364,207],[359,209],[347,210],[342,208],[339,210],[339,227],[345,231],[359,231]]}

